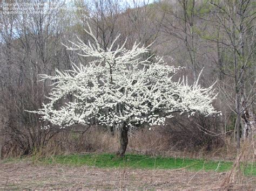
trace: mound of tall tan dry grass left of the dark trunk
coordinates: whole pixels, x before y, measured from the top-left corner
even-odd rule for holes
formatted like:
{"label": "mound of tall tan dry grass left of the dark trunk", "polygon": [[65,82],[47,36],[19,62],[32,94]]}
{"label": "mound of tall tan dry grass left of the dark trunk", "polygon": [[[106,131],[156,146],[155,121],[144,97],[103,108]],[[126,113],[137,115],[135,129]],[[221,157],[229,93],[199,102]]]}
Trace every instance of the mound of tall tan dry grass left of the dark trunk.
{"label": "mound of tall tan dry grass left of the dark trunk", "polygon": [[112,152],[118,147],[118,136],[105,128],[92,126],[64,130],[50,140],[43,150],[44,155],[83,152]]}

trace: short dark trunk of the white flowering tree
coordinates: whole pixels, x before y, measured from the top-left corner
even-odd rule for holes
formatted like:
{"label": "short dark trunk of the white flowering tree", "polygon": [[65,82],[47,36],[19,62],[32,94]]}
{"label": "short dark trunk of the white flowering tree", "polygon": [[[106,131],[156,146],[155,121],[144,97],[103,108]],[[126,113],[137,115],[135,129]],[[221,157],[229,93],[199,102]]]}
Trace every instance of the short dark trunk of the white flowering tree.
{"label": "short dark trunk of the white flowering tree", "polygon": [[117,151],[117,156],[118,157],[124,157],[127,144],[128,144],[128,130],[129,128],[124,125],[124,122],[122,122],[120,126],[120,146]]}

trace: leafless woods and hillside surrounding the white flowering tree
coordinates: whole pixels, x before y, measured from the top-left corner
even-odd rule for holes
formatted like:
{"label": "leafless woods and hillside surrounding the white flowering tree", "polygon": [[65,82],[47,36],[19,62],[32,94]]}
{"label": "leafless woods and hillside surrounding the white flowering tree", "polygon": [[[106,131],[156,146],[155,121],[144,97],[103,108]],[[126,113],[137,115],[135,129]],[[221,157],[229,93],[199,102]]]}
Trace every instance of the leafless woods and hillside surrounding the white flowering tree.
{"label": "leafless woods and hillside surrounding the white flowering tree", "polygon": [[[51,4],[57,1],[29,2]],[[124,43],[127,37],[127,48],[134,41],[146,46],[154,42],[151,54],[163,56],[174,66],[186,67],[180,76],[187,75],[192,81],[204,68],[201,84],[208,86],[218,80],[220,93],[214,105],[223,115],[188,119],[177,116],[170,119],[165,127],[159,128],[159,132],[164,134],[157,136],[163,139],[166,135],[166,142],[159,143],[157,150],[162,147],[181,150],[189,147],[194,150],[202,146],[211,150],[225,145],[227,137],[239,148],[240,138],[247,139],[256,128],[255,5],[250,0],[133,1],[130,4],[118,0],[80,0],[61,2],[58,6],[83,9],[49,9],[45,6],[43,9],[47,14],[8,15],[2,12],[2,153],[31,154],[49,145],[58,145],[65,150],[65,145],[62,145],[64,137],[68,137],[70,143],[82,144],[81,151],[94,149],[91,138],[86,137],[88,128],[74,126],[60,130],[51,126],[47,130],[41,129],[42,125],[48,124],[39,121],[36,114],[24,111],[40,108],[50,90],[48,81],[38,81],[38,74],[51,75],[55,68],[70,69],[72,62],[86,63],[87,58],[66,51],[62,45],[68,39],[76,41],[76,36],[83,41],[89,40],[83,30],[86,23],[89,23],[104,49],[118,34],[119,44]],[[114,131],[109,128],[110,135],[114,135]],[[140,135],[136,131],[140,131],[139,128],[130,132],[130,136]],[[102,139],[99,135],[92,136]],[[146,138],[141,140],[146,142]]]}

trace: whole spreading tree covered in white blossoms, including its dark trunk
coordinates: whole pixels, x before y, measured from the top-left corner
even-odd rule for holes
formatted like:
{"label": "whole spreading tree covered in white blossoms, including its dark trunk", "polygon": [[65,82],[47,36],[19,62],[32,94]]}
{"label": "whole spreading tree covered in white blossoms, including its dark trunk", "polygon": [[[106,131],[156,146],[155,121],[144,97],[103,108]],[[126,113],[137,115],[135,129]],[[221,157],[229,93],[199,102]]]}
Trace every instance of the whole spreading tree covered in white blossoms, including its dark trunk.
{"label": "whole spreading tree covered in white blossoms, including its dark trunk", "polygon": [[[178,82],[172,76],[180,68],[167,65],[156,57],[145,58],[149,47],[135,43],[126,49],[125,43],[114,48],[118,37],[104,51],[89,26],[86,31],[93,39],[78,43],[70,51],[93,58],[71,70],[56,70],[55,76],[41,75],[42,80],[53,80],[49,103],[36,112],[42,119],[65,128],[73,124],[115,126],[120,130],[118,155],[123,156],[128,143],[128,130],[134,125],[164,125],[165,118],[174,112],[205,116],[217,114],[212,106],[216,94],[214,84],[201,88],[198,80],[188,85],[183,77]],[[66,97],[72,95],[73,100]],[[57,103],[65,102],[62,107]]]}

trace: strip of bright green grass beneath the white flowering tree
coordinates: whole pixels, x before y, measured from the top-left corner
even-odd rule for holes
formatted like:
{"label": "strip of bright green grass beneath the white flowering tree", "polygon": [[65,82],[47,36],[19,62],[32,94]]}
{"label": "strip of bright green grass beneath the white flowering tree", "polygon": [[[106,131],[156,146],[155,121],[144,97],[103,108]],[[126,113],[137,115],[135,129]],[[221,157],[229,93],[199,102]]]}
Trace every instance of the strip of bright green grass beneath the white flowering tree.
{"label": "strip of bright green grass beneath the white flowering tree", "polygon": [[[114,154],[72,154],[56,155],[43,158],[40,161],[46,164],[66,164],[75,166],[94,166],[101,168],[144,168],[144,169],[178,169],[185,168],[190,171],[216,171],[225,172],[231,169],[233,162],[209,161],[200,159],[182,159],[167,157],[150,157],[148,155],[127,154],[125,158],[117,158]],[[256,176],[256,164],[248,165],[245,174]]]}

